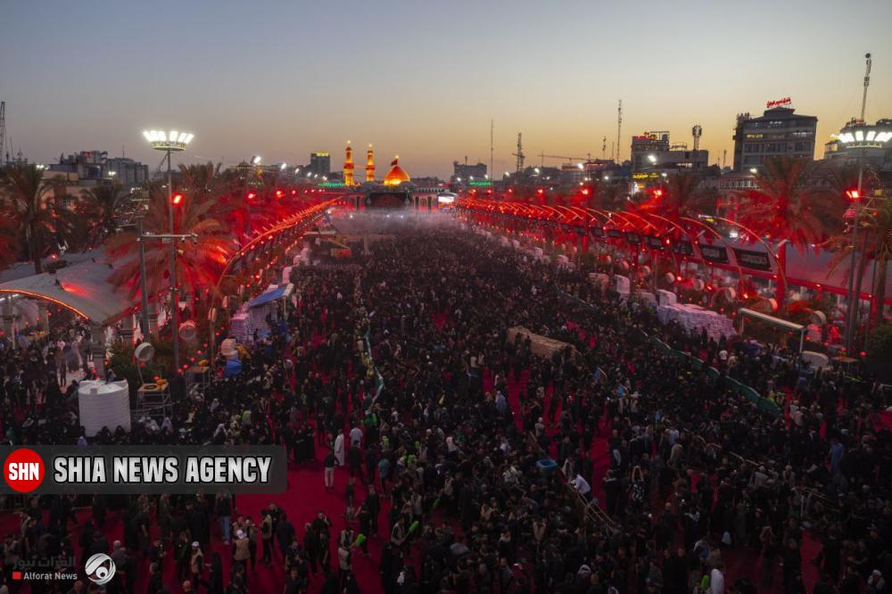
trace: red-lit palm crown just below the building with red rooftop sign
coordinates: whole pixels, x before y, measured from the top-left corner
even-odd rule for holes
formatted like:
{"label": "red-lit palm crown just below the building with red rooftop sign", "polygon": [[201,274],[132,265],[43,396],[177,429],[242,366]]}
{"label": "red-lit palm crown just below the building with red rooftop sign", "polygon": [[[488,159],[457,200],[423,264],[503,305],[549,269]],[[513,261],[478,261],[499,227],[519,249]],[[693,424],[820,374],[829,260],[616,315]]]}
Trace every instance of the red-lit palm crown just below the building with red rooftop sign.
{"label": "red-lit palm crown just below the building with red rooftop sign", "polygon": [[811,162],[805,158],[774,157],[764,161],[756,188],[740,195],[740,221],[760,235],[810,249],[830,236],[828,221],[841,217],[841,196],[809,186]]}

